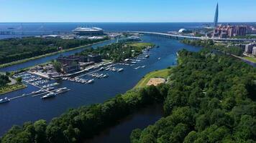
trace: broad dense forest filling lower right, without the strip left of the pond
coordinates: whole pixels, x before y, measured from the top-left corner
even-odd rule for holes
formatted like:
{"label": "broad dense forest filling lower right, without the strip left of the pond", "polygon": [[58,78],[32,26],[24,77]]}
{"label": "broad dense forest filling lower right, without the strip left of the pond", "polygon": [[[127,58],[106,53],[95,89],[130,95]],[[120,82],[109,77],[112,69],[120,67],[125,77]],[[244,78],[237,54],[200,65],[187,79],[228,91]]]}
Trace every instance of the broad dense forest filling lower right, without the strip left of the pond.
{"label": "broad dense forest filling lower right, without the strip left of the pond", "polygon": [[206,49],[179,56],[165,117],[135,129],[131,142],[256,142],[256,69]]}

